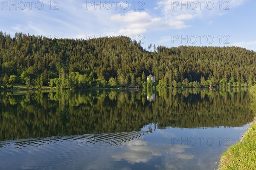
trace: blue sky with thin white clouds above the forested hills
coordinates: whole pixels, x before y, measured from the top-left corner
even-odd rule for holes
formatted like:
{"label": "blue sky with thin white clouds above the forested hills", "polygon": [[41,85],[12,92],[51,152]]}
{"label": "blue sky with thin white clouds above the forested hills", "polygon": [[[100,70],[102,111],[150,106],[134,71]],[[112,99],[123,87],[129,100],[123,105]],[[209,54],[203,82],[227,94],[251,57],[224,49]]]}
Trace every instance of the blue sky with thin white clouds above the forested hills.
{"label": "blue sky with thin white clouds above the forested hills", "polygon": [[0,31],[256,51],[256,0],[0,0]]}

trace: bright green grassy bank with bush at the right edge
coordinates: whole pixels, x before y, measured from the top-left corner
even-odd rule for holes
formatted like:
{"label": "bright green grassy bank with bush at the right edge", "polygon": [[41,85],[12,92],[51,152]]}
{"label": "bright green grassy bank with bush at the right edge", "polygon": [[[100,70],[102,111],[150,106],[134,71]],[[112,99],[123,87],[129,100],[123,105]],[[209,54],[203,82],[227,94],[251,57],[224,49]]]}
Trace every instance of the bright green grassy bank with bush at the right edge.
{"label": "bright green grassy bank with bush at the right edge", "polygon": [[251,110],[255,118],[241,140],[225,151],[220,160],[219,170],[254,170],[256,168],[256,85],[250,88]]}

